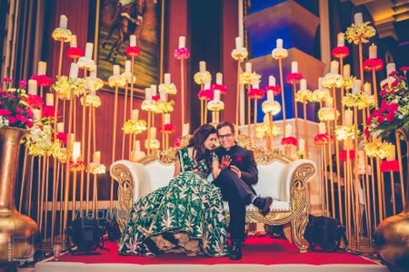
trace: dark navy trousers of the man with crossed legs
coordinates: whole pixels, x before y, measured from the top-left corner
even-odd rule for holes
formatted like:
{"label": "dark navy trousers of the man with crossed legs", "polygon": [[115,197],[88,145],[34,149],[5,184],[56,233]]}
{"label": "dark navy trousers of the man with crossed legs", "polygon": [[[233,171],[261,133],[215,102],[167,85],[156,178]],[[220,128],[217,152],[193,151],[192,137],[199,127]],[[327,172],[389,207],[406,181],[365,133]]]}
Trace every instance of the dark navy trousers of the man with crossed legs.
{"label": "dark navy trousers of the man with crossed legs", "polygon": [[229,204],[231,238],[244,239],[245,206],[251,203],[254,197],[253,191],[229,169],[220,172],[214,180],[214,185],[222,190],[223,199]]}

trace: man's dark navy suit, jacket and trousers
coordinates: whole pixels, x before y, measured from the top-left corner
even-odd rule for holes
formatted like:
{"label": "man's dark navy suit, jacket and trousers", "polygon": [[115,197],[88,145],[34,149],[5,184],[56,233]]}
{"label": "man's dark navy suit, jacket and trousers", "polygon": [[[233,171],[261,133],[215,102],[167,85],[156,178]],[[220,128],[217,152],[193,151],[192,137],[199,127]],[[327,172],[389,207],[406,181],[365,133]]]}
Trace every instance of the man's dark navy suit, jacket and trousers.
{"label": "man's dark navy suit, jacket and trousers", "polygon": [[229,203],[230,210],[230,235],[232,239],[244,239],[245,206],[250,204],[255,191],[252,187],[258,180],[258,170],[254,160],[253,151],[234,145],[230,150],[218,147],[215,153],[219,160],[225,155],[232,159],[231,165],[241,171],[239,178],[230,168],[221,170],[214,185],[222,190],[223,199]]}

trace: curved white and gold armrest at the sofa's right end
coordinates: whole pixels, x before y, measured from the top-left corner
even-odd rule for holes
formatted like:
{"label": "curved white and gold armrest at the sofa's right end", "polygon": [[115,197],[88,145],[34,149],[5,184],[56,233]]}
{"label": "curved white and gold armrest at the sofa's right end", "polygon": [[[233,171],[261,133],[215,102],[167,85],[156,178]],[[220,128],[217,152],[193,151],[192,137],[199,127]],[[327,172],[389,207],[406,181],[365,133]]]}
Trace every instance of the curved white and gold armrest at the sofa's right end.
{"label": "curved white and gold armrest at the sofa's right end", "polygon": [[[285,168],[284,179],[281,181],[280,200],[290,202],[290,197],[293,195],[291,192],[292,187],[304,187],[314,176],[316,170],[317,168],[313,160],[302,159],[288,163]],[[300,182],[301,184],[298,184]]]}

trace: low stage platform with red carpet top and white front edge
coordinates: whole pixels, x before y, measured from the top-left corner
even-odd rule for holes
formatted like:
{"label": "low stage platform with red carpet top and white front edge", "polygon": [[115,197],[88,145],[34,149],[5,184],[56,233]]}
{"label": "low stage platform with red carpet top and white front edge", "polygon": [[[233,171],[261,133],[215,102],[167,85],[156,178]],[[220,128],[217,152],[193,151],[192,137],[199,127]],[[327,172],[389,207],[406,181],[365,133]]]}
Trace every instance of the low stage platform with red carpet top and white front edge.
{"label": "low stage platform with red carpet top and white front edge", "polygon": [[35,265],[38,272],[75,271],[389,271],[365,257],[346,252],[309,252],[301,254],[284,239],[247,238],[243,258],[232,261],[228,257],[186,257],[164,254],[159,257],[119,256],[115,243],[106,242],[108,251],[100,255],[72,256],[66,253],[59,262],[47,259]]}

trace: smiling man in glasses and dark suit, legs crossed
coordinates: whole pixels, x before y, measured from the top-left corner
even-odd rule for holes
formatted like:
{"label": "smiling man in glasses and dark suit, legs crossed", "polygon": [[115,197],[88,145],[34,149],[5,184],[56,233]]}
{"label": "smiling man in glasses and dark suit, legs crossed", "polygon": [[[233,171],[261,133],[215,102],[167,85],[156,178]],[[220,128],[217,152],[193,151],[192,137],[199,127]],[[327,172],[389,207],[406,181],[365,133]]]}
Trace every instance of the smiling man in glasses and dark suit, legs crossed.
{"label": "smiling man in glasses and dark suit, legs crossed", "polygon": [[257,197],[252,187],[258,180],[258,170],[253,151],[239,147],[235,142],[234,124],[221,122],[216,127],[220,147],[215,150],[220,160],[220,174],[214,185],[222,190],[223,199],[229,203],[230,237],[229,257],[242,258],[241,245],[245,238],[245,206],[253,203],[263,215],[270,211],[273,199]]}

